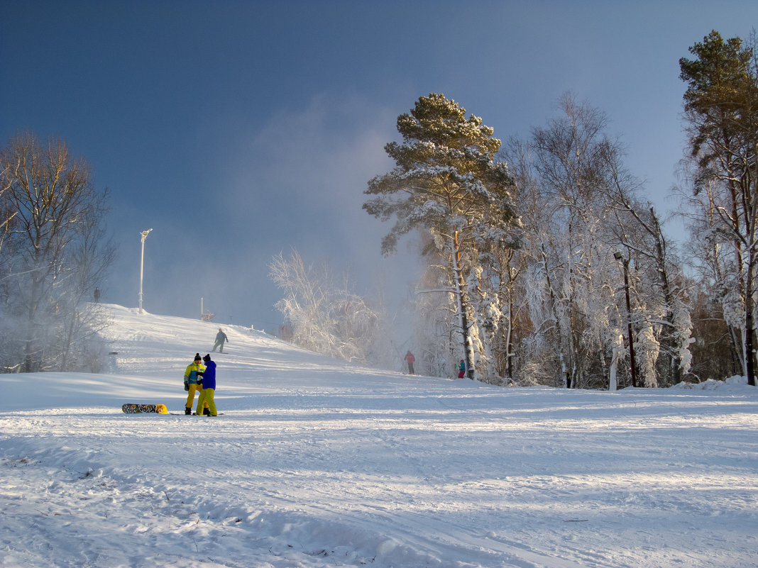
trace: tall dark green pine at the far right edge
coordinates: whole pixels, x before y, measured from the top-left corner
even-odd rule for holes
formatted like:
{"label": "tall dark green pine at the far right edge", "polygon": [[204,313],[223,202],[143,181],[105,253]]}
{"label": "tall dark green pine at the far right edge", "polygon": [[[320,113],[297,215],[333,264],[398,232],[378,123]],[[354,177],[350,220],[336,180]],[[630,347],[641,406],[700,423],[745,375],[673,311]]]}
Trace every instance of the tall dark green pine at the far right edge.
{"label": "tall dark green pine at the far right edge", "polygon": [[[715,30],[695,43],[694,59],[681,58],[687,83],[684,111],[694,162],[694,195],[707,207],[700,220],[706,249],[728,248],[720,275],[725,317],[740,314],[742,358],[750,385],[756,384],[755,322],[758,270],[758,45],[722,39]],[[737,318],[735,318],[736,320]],[[734,322],[736,323],[736,321]]]}

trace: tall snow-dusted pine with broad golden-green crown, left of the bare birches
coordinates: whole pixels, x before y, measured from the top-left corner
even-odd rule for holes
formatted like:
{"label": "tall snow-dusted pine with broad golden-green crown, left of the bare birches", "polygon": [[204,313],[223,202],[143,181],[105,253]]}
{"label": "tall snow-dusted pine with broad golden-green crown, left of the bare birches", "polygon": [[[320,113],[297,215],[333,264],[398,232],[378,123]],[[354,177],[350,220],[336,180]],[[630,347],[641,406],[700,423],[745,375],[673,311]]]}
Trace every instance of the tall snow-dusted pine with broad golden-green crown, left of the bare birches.
{"label": "tall snow-dusted pine with broad golden-green crown, left of the bare birches", "polygon": [[471,294],[478,288],[478,251],[515,245],[518,217],[506,164],[495,160],[500,140],[493,129],[442,94],[421,97],[397,119],[402,143],[385,151],[396,167],[368,183],[363,205],[381,220],[396,220],[382,241],[392,254],[400,236],[421,229],[434,236],[443,274],[440,283],[453,295],[457,330],[468,376],[473,378],[478,347],[477,314]]}

